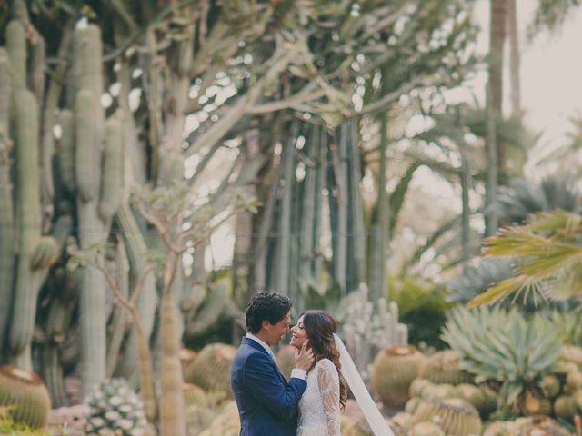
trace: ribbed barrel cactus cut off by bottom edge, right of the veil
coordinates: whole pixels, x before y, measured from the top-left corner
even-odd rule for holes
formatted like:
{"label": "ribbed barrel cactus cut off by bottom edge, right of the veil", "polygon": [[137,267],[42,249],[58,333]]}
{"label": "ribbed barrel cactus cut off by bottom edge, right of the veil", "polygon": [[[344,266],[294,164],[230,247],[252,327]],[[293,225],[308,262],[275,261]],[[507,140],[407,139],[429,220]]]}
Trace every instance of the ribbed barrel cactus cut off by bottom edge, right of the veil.
{"label": "ribbed barrel cactus cut off by bottom edge, right of the veil", "polygon": [[482,424],[477,409],[467,401],[457,398],[420,404],[412,422],[415,424],[424,421],[435,422],[450,436],[481,434]]}

